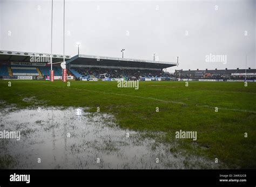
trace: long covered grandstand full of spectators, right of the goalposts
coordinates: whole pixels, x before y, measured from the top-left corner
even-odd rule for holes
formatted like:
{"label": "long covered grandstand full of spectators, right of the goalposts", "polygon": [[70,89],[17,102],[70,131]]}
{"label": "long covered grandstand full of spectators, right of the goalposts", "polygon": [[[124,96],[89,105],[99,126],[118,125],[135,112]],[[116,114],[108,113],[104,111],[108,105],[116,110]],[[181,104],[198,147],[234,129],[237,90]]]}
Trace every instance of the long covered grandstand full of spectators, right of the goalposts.
{"label": "long covered grandstand full of spectators, right of the goalposts", "polygon": [[167,80],[164,69],[177,66],[173,62],[161,62],[117,57],[76,55],[66,62],[70,72],[79,80],[98,78],[111,81],[123,80]]}

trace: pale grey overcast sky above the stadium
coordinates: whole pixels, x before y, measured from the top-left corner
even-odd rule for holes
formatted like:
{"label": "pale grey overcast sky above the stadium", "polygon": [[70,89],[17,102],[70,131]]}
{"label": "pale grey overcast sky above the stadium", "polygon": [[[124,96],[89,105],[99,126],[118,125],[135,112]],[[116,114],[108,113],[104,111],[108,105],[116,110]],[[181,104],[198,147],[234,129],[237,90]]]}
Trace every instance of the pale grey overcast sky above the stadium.
{"label": "pale grey overcast sky above the stadium", "polygon": [[[68,1],[66,54],[176,62],[174,69],[256,68],[256,0]],[[50,53],[51,1],[0,0],[0,49]],[[247,33],[247,35],[245,34]],[[53,53],[63,54],[63,1],[53,4]],[[206,55],[227,55],[227,63]]]}

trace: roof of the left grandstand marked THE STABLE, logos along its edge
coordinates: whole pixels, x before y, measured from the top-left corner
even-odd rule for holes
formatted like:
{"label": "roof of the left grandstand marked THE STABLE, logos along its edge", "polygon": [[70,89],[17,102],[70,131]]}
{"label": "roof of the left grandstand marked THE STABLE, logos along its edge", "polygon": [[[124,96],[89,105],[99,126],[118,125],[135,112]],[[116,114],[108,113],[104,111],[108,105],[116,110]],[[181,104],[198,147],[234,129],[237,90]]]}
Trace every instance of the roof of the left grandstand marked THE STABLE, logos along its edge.
{"label": "roof of the left grandstand marked THE STABLE, logos along its edge", "polygon": [[[47,53],[30,53],[30,52],[17,52],[17,51],[2,51],[0,50],[0,61],[12,61],[12,62],[30,62],[30,56],[50,56]],[[70,59],[69,55],[65,56],[66,59]],[[63,61],[63,55],[52,55],[52,62]]]}

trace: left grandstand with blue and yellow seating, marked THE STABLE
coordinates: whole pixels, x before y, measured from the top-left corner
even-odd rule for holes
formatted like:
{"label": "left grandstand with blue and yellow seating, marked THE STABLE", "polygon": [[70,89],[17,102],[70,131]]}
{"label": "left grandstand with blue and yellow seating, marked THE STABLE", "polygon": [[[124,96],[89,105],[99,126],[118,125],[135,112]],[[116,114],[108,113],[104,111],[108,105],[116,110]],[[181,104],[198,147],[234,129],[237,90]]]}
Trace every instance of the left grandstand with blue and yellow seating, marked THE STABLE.
{"label": "left grandstand with blue and yellow seating, marked THE STABLE", "polygon": [[[69,55],[65,56],[70,59]],[[4,79],[48,79],[50,76],[50,54],[0,51],[0,78]],[[61,79],[60,62],[63,55],[52,57],[55,78]]]}

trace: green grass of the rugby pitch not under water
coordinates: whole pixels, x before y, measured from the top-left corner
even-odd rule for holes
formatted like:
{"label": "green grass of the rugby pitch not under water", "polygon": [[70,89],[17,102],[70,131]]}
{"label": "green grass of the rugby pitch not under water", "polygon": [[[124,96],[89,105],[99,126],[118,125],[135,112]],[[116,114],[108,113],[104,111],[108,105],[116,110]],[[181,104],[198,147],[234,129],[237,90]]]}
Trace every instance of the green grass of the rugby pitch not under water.
{"label": "green grass of the rugby pitch not under water", "polygon": [[[55,81],[0,81],[0,100],[17,107],[90,107],[90,112],[112,113],[121,128],[164,132],[157,141],[186,152],[218,158],[228,168],[256,168],[256,83],[139,82],[139,89],[117,88],[117,82],[66,83]],[[24,102],[24,98],[31,98]],[[0,107],[6,107],[6,103]],[[156,107],[159,112],[156,112]],[[218,112],[215,112],[218,107]],[[175,132],[197,131],[197,141],[176,139]],[[245,138],[248,133],[248,138]]]}

